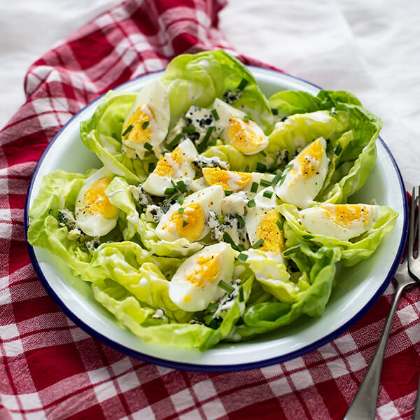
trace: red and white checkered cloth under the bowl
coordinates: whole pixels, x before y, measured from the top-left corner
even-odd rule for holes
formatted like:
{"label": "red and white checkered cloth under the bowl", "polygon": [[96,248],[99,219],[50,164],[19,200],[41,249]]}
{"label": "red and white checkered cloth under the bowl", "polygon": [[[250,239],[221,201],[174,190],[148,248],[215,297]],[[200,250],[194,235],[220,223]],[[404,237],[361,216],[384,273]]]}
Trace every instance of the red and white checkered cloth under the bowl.
{"label": "red and white checkered cloth under the bowl", "polygon": [[[351,330],[305,356],[247,372],[183,372],[114,351],[80,330],[38,281],[23,209],[36,162],[99,94],[174,55],[230,50],[223,0],[129,0],[34,63],[27,102],[0,132],[0,419],[342,419],[365,374],[393,286]],[[246,64],[254,61],[239,56]],[[409,419],[419,379],[420,292],[402,298],[377,416]]]}

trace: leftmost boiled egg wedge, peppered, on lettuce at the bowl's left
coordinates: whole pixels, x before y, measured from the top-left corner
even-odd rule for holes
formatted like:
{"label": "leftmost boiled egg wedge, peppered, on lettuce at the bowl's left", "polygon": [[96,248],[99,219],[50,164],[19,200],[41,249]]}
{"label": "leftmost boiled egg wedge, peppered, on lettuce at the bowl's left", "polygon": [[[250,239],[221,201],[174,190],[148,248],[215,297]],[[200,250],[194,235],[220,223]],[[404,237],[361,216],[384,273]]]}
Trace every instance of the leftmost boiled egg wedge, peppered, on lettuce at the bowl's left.
{"label": "leftmost boiled egg wedge, peppered, on lettuce at the bowl's left", "polygon": [[116,227],[118,208],[105,194],[112,177],[105,168],[86,179],[76,198],[74,212],[78,227],[86,235],[102,237]]}

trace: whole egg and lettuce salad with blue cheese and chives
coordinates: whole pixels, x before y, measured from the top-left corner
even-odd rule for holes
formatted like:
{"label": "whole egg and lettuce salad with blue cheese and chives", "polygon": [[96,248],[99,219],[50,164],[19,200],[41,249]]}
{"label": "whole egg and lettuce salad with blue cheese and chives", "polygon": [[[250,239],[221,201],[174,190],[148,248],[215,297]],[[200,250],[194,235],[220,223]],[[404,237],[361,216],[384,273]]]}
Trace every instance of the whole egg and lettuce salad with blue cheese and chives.
{"label": "whole egg and lettuce salad with blue cheese and chives", "polygon": [[251,339],[321,316],[337,263],[393,230],[397,211],[348,203],[380,129],[349,92],[267,98],[223,50],[180,55],[80,124],[103,166],[44,176],[27,237],[142,340]]}

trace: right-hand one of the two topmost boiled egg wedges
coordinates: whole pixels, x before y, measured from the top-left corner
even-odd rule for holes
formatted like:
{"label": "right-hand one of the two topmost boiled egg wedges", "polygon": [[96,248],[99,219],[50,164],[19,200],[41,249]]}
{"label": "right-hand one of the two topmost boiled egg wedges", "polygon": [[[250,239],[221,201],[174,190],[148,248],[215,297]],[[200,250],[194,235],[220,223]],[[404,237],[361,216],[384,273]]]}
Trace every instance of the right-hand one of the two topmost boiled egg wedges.
{"label": "right-hand one of the two topmost boiled egg wedges", "polygon": [[226,144],[231,144],[244,155],[254,155],[268,146],[264,132],[246,117],[246,113],[217,98],[214,109],[218,115],[216,130]]}

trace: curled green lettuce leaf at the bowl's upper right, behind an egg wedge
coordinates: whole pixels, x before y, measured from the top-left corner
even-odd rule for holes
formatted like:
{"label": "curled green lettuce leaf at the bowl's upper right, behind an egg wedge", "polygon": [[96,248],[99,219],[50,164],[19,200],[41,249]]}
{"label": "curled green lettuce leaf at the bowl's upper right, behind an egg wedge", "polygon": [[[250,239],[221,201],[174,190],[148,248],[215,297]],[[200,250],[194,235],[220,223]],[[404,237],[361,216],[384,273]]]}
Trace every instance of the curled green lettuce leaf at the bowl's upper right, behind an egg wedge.
{"label": "curled green lettuce leaf at the bowl's upper right, behind an egg wedge", "polygon": [[279,117],[288,118],[276,123],[267,152],[287,151],[290,160],[300,148],[324,137],[331,163],[316,201],[345,203],[374,168],[381,120],[344,91],[321,90],[316,97],[285,91],[274,94],[269,103]]}

